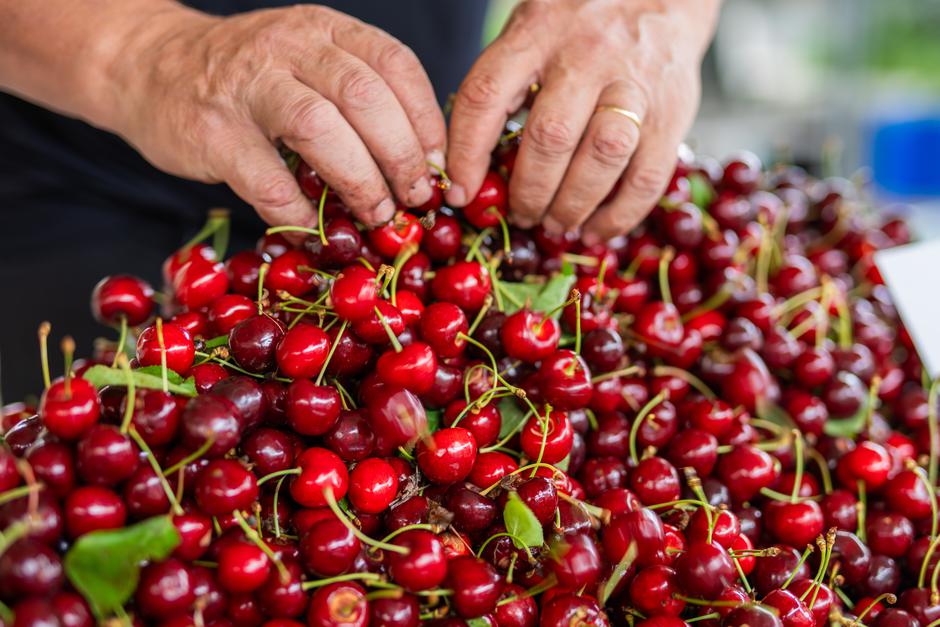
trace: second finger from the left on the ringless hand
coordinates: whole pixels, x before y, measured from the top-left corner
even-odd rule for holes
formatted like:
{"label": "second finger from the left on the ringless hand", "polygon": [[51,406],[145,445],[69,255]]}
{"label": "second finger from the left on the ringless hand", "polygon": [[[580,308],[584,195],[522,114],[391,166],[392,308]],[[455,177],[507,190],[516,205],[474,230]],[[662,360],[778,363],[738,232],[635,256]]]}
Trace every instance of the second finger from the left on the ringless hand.
{"label": "second finger from the left on the ringless hand", "polygon": [[361,222],[376,226],[395,213],[395,201],[369,149],[329,100],[290,76],[271,80],[255,118],[271,138],[303,157]]}

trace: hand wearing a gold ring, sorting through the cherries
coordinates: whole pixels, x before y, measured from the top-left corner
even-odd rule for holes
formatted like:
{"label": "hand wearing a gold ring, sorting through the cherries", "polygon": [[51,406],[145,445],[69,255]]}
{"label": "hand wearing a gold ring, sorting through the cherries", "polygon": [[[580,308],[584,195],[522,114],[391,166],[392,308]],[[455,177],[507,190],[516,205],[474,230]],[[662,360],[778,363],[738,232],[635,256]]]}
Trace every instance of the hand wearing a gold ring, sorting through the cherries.
{"label": "hand wearing a gold ring, sorting through the cherries", "polygon": [[512,221],[582,227],[586,243],[627,232],[675,168],[717,9],[718,0],[521,3],[457,92],[448,202],[476,195],[507,116],[538,83],[509,185]]}

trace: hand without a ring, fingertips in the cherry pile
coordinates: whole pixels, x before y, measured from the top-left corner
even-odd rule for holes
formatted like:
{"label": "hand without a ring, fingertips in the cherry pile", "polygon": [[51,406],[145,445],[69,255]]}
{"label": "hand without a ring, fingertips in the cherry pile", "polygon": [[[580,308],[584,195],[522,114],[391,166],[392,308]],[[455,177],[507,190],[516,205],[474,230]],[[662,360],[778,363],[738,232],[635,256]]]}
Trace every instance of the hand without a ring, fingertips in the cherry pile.
{"label": "hand without a ring, fingertips in the cherry pile", "polygon": [[401,42],[321,6],[233,17],[168,6],[128,33],[109,69],[120,104],[106,126],[155,166],[228,183],[272,225],[316,223],[277,141],[366,225],[389,220],[394,198],[430,198],[444,118]]}

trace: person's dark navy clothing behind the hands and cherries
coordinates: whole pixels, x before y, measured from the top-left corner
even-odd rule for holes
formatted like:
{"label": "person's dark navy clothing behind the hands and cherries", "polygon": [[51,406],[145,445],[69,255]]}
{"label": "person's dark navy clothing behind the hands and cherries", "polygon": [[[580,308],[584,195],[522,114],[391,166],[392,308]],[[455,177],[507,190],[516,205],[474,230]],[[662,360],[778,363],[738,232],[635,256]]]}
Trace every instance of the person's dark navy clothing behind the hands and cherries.
{"label": "person's dark navy clothing behind the hands and cherries", "polygon": [[[293,4],[194,0],[214,14]],[[421,59],[443,102],[479,51],[484,0],[327,0],[386,30]],[[233,210],[233,243],[261,234],[254,212],[224,185],[164,174],[119,138],[0,94],[0,391],[5,402],[40,389],[35,330],[75,336],[88,354],[110,332],[92,320],[91,289],[130,273],[159,288],[162,260],[210,207]],[[55,344],[53,344],[53,347]],[[57,351],[50,351],[53,354]],[[55,362],[53,362],[55,363]]]}

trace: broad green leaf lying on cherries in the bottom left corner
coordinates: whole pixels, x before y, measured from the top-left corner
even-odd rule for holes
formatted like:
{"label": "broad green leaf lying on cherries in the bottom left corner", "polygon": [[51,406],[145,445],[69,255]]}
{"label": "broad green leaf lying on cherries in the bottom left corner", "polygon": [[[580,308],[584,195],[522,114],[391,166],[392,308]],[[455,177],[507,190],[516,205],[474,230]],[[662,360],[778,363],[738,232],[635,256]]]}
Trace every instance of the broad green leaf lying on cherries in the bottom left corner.
{"label": "broad green leaf lying on cherries in the bottom left corner", "polygon": [[134,594],[140,563],[162,560],[180,543],[169,516],[148,518],[130,527],[92,531],[65,554],[65,574],[99,619],[123,611]]}

